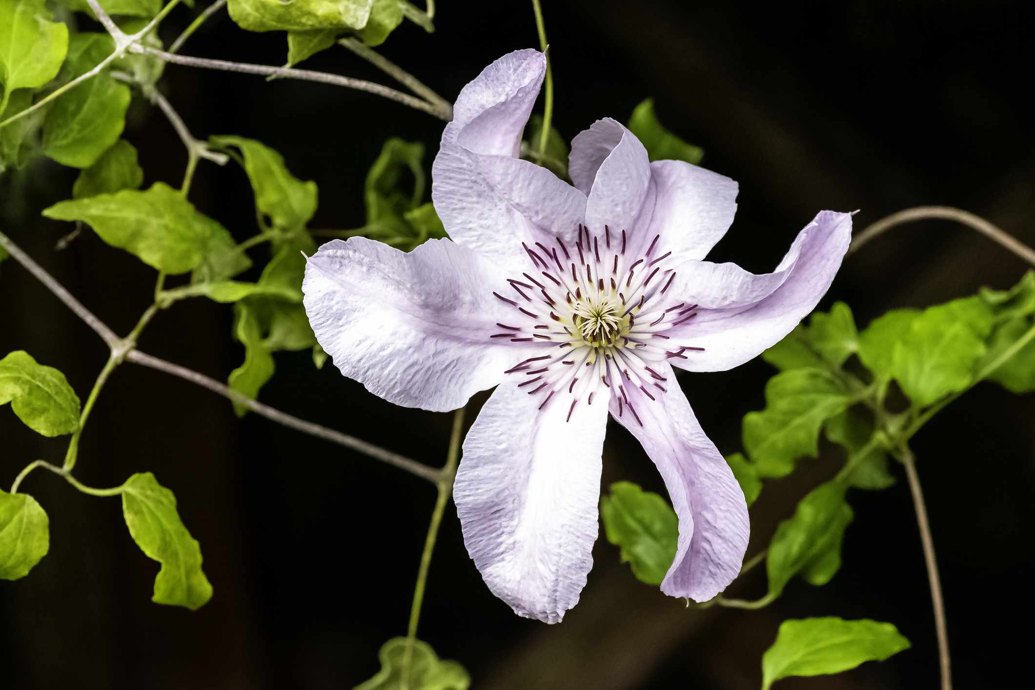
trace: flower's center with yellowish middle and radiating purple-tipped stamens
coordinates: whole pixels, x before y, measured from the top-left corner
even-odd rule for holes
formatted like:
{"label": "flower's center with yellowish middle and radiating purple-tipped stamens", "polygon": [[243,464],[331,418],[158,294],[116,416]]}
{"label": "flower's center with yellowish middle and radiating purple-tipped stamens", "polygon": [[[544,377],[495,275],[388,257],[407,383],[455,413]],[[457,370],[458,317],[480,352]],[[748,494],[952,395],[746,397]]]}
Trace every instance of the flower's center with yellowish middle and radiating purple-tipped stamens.
{"label": "flower's center with yellowish middle and radiating purple-tipped stamens", "polygon": [[697,305],[667,296],[676,272],[666,266],[671,251],[656,256],[659,239],[632,252],[624,230],[618,235],[604,226],[603,234],[594,236],[579,226],[574,246],[560,238],[555,247],[522,245],[532,267],[523,279],[507,279],[513,299],[493,293],[514,307],[514,319],[498,323],[501,332],[490,337],[535,351],[507,373],[522,376],[519,387],[543,396],[540,410],[557,397],[568,398],[570,420],[580,400],[592,404],[605,388],[617,395],[619,416],[627,408],[640,422],[627,388],[655,399],[668,381],[657,371],[659,363],[703,350],[670,342],[675,333],[669,332],[692,319]]}

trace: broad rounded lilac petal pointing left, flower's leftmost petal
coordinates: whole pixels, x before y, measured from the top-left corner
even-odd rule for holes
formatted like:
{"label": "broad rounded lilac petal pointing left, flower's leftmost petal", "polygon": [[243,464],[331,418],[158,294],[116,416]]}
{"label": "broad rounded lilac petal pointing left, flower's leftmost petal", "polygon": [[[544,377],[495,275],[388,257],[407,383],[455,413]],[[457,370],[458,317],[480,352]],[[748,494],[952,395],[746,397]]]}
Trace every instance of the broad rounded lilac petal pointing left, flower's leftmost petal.
{"label": "broad rounded lilac petal pointing left, flower's leftmost petal", "polygon": [[395,404],[445,412],[492,388],[520,359],[490,338],[512,310],[498,272],[449,240],[410,253],[361,237],[323,245],[305,267],[305,312],[342,373]]}

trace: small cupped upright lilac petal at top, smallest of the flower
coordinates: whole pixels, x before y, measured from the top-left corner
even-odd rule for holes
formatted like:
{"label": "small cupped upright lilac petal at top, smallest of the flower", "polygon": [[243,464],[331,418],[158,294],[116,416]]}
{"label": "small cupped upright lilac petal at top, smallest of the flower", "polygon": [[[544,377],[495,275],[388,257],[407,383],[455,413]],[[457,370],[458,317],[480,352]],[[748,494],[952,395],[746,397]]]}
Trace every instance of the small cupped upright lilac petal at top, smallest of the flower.
{"label": "small cupped upright lilac petal at top, smallest of the flower", "polygon": [[[588,194],[586,224],[630,233],[640,223],[650,187],[647,149],[635,134],[611,118],[597,120],[571,141],[568,174]],[[588,189],[588,191],[587,191]]]}

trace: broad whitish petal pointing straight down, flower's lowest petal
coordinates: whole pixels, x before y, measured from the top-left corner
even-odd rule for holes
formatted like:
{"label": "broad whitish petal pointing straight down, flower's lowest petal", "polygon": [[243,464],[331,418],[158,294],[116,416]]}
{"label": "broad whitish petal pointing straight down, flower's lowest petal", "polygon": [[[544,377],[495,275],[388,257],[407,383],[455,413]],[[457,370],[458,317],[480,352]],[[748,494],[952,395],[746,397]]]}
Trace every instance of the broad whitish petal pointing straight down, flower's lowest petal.
{"label": "broad whitish petal pointing straight down, flower's lowest petal", "polygon": [[453,485],[464,543],[519,616],[559,623],[593,565],[608,395],[568,415],[557,398],[501,384],[464,441]]}

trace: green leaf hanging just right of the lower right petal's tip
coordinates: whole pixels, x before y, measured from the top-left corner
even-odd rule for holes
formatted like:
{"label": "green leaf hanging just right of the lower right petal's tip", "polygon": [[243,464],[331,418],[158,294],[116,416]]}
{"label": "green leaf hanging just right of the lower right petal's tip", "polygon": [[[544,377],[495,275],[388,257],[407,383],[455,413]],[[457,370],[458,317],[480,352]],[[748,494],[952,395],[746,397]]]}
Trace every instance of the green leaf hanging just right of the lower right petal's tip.
{"label": "green leaf hanging just right of the lower right petal's tip", "polygon": [[845,502],[845,484],[820,484],[798,503],[794,515],[776,528],[769,543],[766,570],[769,596],[778,596],[795,574],[811,584],[826,584],[840,567],[845,529],[852,508]]}

